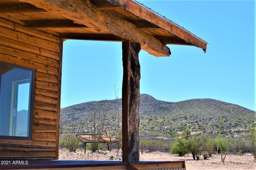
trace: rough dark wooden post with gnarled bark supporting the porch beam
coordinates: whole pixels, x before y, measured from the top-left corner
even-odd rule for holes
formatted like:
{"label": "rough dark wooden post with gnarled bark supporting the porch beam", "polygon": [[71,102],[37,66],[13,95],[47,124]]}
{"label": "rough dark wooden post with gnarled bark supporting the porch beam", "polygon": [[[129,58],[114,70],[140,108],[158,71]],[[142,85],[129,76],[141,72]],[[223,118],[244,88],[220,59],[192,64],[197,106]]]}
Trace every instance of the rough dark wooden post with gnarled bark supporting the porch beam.
{"label": "rough dark wooden post with gnarled bark supporting the porch beam", "polygon": [[140,44],[124,41],[122,88],[123,162],[139,161]]}

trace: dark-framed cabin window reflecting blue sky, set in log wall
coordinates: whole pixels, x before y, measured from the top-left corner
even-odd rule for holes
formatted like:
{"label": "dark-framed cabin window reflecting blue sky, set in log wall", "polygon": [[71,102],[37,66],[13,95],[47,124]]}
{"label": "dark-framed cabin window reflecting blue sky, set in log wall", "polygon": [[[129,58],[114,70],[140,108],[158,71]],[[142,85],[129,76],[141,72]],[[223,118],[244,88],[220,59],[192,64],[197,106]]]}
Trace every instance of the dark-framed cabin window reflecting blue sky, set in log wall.
{"label": "dark-framed cabin window reflecting blue sky, set in log wall", "polygon": [[0,137],[30,139],[34,101],[33,69],[0,62]]}

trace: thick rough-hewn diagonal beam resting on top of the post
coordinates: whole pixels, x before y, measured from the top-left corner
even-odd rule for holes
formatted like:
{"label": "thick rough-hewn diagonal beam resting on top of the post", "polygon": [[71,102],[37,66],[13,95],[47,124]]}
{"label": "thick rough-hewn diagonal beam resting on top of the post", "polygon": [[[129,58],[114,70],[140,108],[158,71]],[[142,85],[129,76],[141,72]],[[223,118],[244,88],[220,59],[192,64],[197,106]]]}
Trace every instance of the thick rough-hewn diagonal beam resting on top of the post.
{"label": "thick rough-hewn diagonal beam resting on top of the post", "polygon": [[19,0],[44,8],[51,13],[65,16],[76,23],[87,27],[107,30],[111,34],[141,44],[141,48],[154,56],[170,56],[170,49],[163,43],[138,29],[133,23],[128,22],[109,12],[100,11],[90,1],[69,0]]}

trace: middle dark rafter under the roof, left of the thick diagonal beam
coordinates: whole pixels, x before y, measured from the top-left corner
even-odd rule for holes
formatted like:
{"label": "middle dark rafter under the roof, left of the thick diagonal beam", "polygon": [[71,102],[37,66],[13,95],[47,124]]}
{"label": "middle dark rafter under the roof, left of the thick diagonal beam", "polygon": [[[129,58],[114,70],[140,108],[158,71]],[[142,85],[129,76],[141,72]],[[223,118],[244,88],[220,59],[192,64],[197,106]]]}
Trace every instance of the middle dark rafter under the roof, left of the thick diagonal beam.
{"label": "middle dark rafter under the roof, left of the thick diagonal beam", "polygon": [[29,28],[88,28],[83,24],[74,23],[72,20],[38,20],[25,21]]}

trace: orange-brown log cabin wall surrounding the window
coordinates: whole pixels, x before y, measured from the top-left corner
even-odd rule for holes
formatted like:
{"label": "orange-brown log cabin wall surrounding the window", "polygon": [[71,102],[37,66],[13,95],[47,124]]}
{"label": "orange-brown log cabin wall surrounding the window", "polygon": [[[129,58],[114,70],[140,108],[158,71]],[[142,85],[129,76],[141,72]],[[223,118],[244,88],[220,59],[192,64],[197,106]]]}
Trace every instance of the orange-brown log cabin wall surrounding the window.
{"label": "orange-brown log cabin wall surrounding the window", "polygon": [[0,62],[36,69],[31,140],[0,139],[0,158],[58,159],[62,40],[0,14]]}

